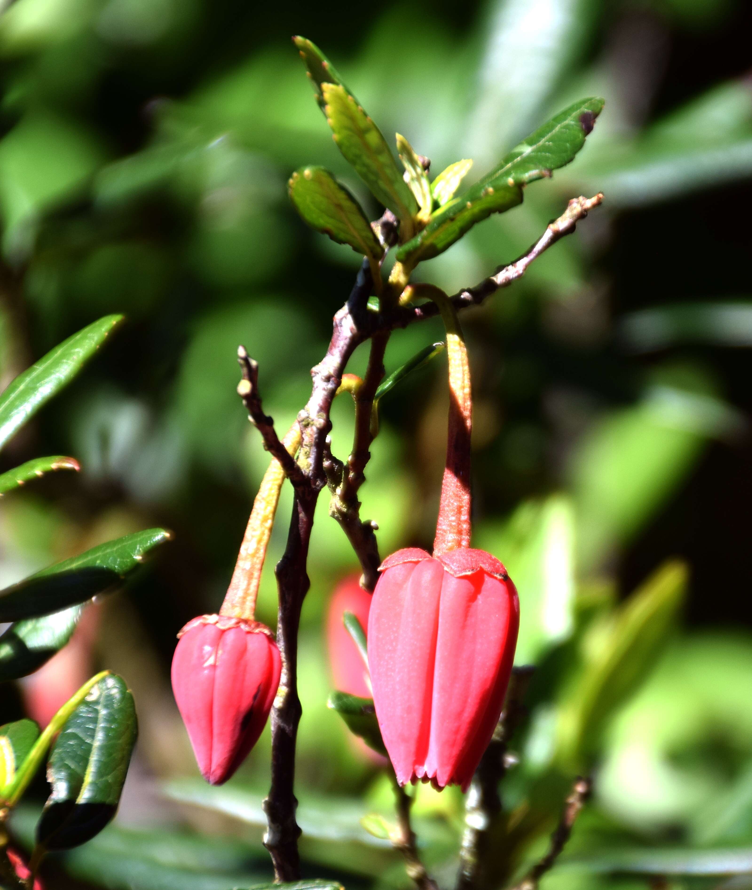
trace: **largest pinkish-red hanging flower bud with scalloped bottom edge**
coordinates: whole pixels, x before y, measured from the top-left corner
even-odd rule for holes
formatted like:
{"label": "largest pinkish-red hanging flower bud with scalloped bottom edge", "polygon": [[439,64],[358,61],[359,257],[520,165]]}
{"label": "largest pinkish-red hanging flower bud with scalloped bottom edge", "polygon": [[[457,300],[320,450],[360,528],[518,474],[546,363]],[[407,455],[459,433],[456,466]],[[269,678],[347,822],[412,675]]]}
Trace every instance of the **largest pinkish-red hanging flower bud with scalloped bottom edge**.
{"label": "largest pinkish-red hanging flower bud with scalloped bottom edge", "polygon": [[501,562],[460,547],[384,561],[368,619],[376,717],[401,785],[466,790],[504,705],[520,623]]}

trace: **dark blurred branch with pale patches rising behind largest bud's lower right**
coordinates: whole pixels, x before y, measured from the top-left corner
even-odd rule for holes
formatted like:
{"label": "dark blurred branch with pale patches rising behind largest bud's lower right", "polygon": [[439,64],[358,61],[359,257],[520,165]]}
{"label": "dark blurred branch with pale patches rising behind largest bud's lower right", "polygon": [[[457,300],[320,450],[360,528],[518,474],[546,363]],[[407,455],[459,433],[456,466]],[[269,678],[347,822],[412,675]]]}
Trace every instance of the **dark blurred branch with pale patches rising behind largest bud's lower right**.
{"label": "dark blurred branch with pale patches rising behind largest bud's lower right", "polygon": [[465,831],[459,853],[457,890],[488,884],[487,860],[494,853],[493,839],[502,812],[499,784],[508,765],[509,742],[527,713],[523,701],[534,669],[527,666],[513,669],[504,710],[473,775],[465,801]]}

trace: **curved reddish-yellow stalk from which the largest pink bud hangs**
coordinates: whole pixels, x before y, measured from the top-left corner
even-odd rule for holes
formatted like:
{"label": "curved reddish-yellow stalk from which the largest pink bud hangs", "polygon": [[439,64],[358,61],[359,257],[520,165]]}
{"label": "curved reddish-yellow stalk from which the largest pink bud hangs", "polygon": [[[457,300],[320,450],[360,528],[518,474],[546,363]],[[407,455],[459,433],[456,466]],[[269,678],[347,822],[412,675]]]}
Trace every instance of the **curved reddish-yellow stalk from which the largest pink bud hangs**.
{"label": "curved reddish-yellow stalk from which the largest pink bud hangs", "polygon": [[473,429],[473,395],[465,336],[454,303],[443,292],[432,293],[447,329],[449,361],[449,422],[447,463],[441,483],[439,519],[433,540],[434,554],[470,546],[470,435]]}

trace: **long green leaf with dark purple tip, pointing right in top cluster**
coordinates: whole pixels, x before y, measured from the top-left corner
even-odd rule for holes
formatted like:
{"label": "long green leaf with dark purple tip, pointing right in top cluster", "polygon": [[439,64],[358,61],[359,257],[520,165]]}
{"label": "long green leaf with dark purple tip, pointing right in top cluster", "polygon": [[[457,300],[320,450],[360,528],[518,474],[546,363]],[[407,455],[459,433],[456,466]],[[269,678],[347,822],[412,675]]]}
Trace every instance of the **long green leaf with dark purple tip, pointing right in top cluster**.
{"label": "long green leaf with dark purple tip, pointing right in top cluster", "polygon": [[429,260],[451,247],[475,223],[521,204],[523,186],[550,177],[553,170],[573,160],[602,108],[602,99],[582,99],[538,127],[465,195],[433,214],[425,229],[400,247],[397,259],[409,265]]}

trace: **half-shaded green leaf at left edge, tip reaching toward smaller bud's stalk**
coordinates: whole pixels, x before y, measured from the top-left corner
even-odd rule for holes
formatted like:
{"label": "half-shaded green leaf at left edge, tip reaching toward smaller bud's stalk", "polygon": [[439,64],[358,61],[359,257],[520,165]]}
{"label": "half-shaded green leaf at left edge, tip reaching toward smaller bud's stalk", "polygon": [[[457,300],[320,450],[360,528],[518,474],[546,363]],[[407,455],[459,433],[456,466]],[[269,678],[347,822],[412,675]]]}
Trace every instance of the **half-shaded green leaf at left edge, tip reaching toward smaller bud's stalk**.
{"label": "half-shaded green leaf at left edge, tip reaching toward smaller bud's stalk", "polygon": [[0,621],[34,618],[85,603],[117,585],[150,550],[169,538],[164,529],[137,531],[37,571],[0,590]]}

